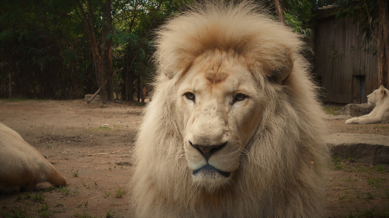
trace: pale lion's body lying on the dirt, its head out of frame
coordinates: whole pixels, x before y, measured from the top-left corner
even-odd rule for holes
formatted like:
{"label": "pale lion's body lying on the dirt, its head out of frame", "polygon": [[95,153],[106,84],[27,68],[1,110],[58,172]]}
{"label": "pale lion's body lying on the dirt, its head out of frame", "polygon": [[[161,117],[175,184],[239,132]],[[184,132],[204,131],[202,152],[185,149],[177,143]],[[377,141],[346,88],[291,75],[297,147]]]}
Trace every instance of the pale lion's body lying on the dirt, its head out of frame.
{"label": "pale lion's body lying on the dirt, its head out of frame", "polygon": [[35,148],[0,123],[0,192],[32,190],[37,183],[66,185],[66,178]]}

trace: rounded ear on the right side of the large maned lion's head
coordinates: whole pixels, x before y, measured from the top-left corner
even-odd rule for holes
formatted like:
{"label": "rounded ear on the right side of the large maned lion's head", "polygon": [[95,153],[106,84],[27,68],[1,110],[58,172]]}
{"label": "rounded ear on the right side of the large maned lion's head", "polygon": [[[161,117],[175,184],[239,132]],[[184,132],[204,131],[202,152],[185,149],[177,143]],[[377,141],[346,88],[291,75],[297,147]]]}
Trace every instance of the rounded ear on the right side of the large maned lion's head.
{"label": "rounded ear on the right side of the large maned lion's head", "polygon": [[279,85],[282,85],[293,69],[293,60],[290,52],[288,50],[285,51],[286,54],[282,55],[284,58],[278,62],[279,66],[271,71],[270,76],[268,76],[268,80]]}

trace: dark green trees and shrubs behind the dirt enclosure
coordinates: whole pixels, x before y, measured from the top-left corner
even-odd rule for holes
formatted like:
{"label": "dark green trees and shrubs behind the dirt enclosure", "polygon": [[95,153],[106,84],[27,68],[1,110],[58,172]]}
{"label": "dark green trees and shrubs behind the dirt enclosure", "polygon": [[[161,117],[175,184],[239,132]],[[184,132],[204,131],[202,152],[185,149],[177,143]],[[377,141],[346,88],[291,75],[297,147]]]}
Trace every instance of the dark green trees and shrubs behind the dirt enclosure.
{"label": "dark green trees and shrubs behind the dirt enclosure", "polygon": [[[257,1],[277,19],[279,0]],[[103,100],[141,101],[155,72],[152,33],[190,3],[0,1],[0,98],[79,99],[102,87]],[[311,35],[317,7],[316,0],[284,0],[286,24]]]}

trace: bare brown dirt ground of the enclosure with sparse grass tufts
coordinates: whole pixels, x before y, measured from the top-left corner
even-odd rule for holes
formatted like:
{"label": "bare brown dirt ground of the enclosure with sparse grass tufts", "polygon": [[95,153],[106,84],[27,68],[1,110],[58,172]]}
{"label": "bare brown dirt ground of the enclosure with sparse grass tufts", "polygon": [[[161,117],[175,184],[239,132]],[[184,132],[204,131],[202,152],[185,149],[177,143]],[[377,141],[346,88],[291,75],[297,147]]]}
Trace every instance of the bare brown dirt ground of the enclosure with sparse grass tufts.
{"label": "bare brown dirt ground of the enclosure with sparse grass tufts", "polygon": [[[132,217],[128,181],[142,108],[84,100],[0,100],[0,122],[17,131],[68,182],[60,189],[3,194],[0,216]],[[389,124],[344,122],[328,121],[328,134],[389,134]],[[328,169],[323,217],[389,217],[388,165],[333,157]]]}

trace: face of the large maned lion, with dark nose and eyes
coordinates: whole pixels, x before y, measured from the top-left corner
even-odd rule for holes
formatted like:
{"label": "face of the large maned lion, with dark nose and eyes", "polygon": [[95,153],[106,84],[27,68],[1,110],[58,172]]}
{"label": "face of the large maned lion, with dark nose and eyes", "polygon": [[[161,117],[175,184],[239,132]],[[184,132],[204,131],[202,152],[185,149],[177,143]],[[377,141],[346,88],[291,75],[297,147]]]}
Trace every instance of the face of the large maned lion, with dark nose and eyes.
{"label": "face of the large maned lion, with dark nose and eyes", "polygon": [[232,52],[195,59],[180,78],[177,125],[193,182],[213,190],[228,183],[261,120],[258,83]]}

